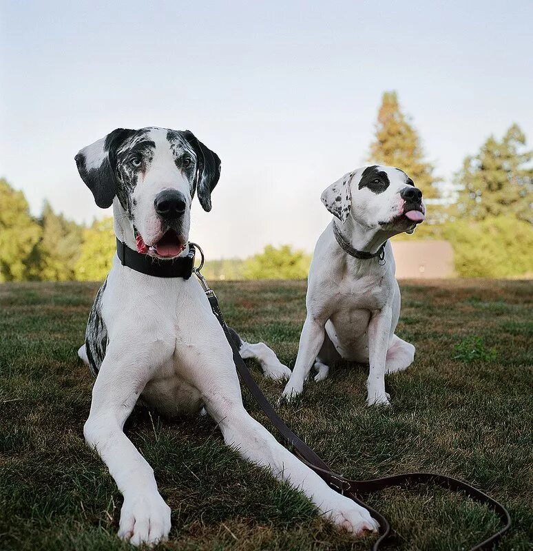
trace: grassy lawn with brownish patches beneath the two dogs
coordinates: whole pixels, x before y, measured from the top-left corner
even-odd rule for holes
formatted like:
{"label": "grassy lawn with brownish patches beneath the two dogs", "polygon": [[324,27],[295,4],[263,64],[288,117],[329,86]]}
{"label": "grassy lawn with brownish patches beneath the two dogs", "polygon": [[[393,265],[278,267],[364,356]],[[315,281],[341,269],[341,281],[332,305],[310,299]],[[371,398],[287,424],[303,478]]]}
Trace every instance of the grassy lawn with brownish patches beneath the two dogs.
{"label": "grassy lawn with brownish patches beneath the two dogs", "polygon": [[[96,284],[0,285],[0,549],[130,549],[116,537],[122,503],[83,441],[92,378],[78,360]],[[304,282],[216,284],[227,321],[290,367]],[[398,334],[415,363],[388,377],[393,407],[366,408],[366,368],[343,364],[280,413],[351,478],[407,470],[470,481],[508,506],[500,549],[532,549],[531,282],[403,282]],[[257,365],[273,400],[282,390]],[[244,393],[252,415],[264,422]],[[266,424],[268,426],[268,424]],[[317,517],[302,495],[226,448],[206,417],[135,410],[125,428],[172,508],[169,550],[368,550]],[[497,526],[488,510],[433,487],[390,489],[368,503],[393,525],[390,548],[468,549]]]}

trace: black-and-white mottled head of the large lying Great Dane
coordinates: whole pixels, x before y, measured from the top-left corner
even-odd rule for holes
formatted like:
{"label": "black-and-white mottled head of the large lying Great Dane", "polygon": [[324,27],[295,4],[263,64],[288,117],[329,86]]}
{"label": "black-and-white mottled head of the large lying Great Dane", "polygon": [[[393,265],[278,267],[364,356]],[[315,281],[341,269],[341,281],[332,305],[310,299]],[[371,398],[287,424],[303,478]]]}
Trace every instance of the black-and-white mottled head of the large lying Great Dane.
{"label": "black-and-white mottled head of the large lying Great Dane", "polygon": [[178,256],[189,240],[195,191],[205,211],[220,177],[220,158],[188,130],[118,128],[76,155],[98,207],[115,205],[129,220],[137,250]]}

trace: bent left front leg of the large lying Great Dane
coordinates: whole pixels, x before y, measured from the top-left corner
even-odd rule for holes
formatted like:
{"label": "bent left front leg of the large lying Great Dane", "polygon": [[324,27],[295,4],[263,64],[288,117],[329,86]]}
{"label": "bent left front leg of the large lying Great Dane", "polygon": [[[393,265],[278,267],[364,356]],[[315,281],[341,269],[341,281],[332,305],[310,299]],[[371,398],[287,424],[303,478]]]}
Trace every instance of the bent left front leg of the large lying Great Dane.
{"label": "bent left front leg of the large lying Great Dane", "polygon": [[124,496],[118,536],[133,545],[165,540],[170,531],[170,508],[158,492],[154,471],[123,433],[147,383],[148,370],[139,366],[127,346],[114,350],[109,345],[83,427],[87,444],[96,448]]}

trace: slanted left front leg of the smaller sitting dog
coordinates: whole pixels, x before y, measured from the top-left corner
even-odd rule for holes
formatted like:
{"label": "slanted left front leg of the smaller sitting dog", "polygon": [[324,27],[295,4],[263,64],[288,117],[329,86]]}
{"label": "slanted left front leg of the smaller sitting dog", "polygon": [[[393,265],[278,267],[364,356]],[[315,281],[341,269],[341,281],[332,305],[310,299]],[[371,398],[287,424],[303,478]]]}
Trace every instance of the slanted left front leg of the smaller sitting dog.
{"label": "slanted left front leg of the smaller sitting dog", "polygon": [[291,378],[283,391],[283,396],[289,400],[304,390],[304,381],[307,375],[309,375],[309,371],[311,371],[311,367],[315,363],[324,343],[325,325],[325,320],[317,320],[311,315],[308,315],[305,320],[302,336],[300,337],[296,364]]}

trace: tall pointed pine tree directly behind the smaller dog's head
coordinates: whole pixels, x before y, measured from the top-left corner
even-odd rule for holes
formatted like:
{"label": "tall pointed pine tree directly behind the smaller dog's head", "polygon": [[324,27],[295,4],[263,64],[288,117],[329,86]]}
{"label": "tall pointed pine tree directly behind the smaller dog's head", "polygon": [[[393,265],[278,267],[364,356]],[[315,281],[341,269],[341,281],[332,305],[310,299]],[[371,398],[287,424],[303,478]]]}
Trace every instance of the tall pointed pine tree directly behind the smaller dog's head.
{"label": "tall pointed pine tree directly behind the smaller dog's head", "polygon": [[424,160],[419,135],[401,111],[396,92],[383,94],[382,105],[377,113],[375,141],[370,145],[369,160],[403,170],[422,190],[424,198],[439,198],[436,184],[441,179],[434,176],[435,167]]}

